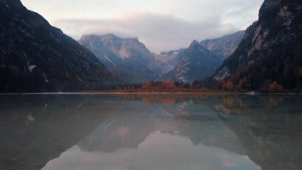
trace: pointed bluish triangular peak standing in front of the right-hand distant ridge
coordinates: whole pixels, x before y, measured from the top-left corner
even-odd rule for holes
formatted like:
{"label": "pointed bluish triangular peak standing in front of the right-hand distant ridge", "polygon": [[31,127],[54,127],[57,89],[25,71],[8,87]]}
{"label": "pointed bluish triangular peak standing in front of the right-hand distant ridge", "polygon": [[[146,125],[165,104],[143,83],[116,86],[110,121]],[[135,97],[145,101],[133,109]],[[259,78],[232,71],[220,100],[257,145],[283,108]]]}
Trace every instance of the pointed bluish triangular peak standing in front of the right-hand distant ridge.
{"label": "pointed bluish triangular peak standing in front of the right-hand distant ridge", "polygon": [[184,51],[183,58],[176,67],[165,74],[163,81],[193,82],[202,80],[213,74],[222,60],[194,40]]}

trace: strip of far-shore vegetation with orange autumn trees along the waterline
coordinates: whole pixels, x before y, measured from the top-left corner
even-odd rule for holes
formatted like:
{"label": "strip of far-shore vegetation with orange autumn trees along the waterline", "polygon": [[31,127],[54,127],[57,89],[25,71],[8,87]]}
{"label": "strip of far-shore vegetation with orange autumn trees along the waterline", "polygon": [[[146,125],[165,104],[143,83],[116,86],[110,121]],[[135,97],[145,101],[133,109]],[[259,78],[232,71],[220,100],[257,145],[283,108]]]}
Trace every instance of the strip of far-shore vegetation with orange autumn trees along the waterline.
{"label": "strip of far-shore vegetation with orange autumn trees along the waterline", "polygon": [[268,85],[266,90],[250,90],[245,88],[206,88],[201,82],[195,81],[192,84],[179,82],[161,82],[150,81],[145,84],[128,85],[110,85],[103,89],[78,90],[78,91],[48,91],[48,92],[11,92],[0,94],[119,94],[119,93],[137,93],[137,94],[302,94],[302,90],[288,90],[280,87],[275,82]]}

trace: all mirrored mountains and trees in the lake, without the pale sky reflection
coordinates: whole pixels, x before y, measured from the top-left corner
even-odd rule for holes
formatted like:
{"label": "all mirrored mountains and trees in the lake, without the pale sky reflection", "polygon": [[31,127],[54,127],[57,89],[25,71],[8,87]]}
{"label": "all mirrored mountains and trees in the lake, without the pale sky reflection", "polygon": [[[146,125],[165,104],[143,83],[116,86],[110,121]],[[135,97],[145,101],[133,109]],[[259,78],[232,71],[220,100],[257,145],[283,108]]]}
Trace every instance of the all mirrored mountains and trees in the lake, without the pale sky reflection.
{"label": "all mirrored mountains and trees in the lake, without the pale sky reflection", "polygon": [[298,170],[301,103],[282,95],[0,96],[0,169],[39,169],[75,144],[135,148],[163,131],[248,155],[262,170]]}

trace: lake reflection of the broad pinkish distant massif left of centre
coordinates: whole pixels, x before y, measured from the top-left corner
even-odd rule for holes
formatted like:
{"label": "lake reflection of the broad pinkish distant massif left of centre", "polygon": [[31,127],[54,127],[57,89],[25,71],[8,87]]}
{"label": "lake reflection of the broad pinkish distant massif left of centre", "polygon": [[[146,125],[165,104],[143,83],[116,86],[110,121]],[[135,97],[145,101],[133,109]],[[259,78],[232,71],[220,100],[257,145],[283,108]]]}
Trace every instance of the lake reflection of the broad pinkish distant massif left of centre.
{"label": "lake reflection of the broad pinkish distant massif left of centre", "polygon": [[[125,111],[127,107],[127,111]],[[104,119],[78,146],[86,151],[113,151],[121,147],[137,147],[155,127],[156,109],[144,109],[148,104],[125,101]],[[156,106],[155,106],[156,107]]]}

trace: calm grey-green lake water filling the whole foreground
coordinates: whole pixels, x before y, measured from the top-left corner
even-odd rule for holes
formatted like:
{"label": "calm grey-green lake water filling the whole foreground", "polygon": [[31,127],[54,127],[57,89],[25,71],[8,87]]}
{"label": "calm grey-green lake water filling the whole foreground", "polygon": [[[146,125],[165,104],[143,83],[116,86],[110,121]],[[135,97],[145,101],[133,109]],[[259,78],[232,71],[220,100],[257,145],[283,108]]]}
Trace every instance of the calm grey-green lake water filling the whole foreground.
{"label": "calm grey-green lake water filling the whole foreground", "polygon": [[302,96],[0,95],[0,170],[302,170]]}

